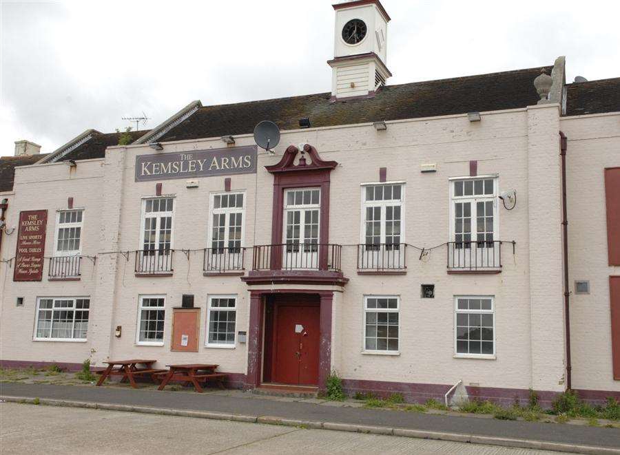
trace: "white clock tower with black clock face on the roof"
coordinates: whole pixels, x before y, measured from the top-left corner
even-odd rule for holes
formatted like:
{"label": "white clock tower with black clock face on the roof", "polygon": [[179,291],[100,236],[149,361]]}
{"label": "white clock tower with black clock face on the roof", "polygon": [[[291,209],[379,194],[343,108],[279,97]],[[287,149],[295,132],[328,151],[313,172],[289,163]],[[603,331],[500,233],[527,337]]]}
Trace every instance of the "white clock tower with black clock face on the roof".
{"label": "white clock tower with black clock face on the roof", "polygon": [[372,97],[392,74],[386,66],[390,17],[379,0],[336,3],[331,99]]}

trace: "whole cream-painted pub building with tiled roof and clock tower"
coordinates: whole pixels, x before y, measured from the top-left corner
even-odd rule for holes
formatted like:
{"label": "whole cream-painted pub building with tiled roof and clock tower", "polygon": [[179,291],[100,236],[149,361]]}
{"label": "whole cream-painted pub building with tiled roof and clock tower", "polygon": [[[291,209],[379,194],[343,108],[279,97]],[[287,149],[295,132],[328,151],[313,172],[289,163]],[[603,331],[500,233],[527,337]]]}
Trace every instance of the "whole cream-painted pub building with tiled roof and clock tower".
{"label": "whole cream-painted pub building with tiled roof and clock tower", "polygon": [[[620,398],[620,78],[386,84],[338,3],[331,92],[190,103],[0,160],[1,365],[214,363],[227,386]],[[256,145],[262,120],[278,145]],[[564,192],[566,188],[566,192]],[[565,249],[566,248],[566,249]],[[452,393],[452,392],[451,392]],[[448,399],[451,395],[448,395]]]}

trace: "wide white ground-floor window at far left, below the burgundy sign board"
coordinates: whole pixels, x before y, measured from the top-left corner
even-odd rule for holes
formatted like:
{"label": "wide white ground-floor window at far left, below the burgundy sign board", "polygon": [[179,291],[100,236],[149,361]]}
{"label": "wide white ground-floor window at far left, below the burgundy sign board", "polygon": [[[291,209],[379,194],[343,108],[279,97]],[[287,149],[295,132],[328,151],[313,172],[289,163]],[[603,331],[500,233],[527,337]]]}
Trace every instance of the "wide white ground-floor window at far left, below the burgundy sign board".
{"label": "wide white ground-floor window at far left, below the burgundy sign board", "polygon": [[88,297],[39,297],[34,339],[85,341],[89,309]]}

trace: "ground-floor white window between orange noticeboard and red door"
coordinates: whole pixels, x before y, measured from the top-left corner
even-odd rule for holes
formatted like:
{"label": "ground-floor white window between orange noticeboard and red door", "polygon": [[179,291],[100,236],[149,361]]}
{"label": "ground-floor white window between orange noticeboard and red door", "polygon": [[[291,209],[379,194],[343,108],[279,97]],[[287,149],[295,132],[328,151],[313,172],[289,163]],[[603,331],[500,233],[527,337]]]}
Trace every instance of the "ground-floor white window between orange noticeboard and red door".
{"label": "ground-floor white window between orange noticeboard and red door", "polygon": [[207,343],[216,348],[234,348],[237,319],[236,295],[209,295]]}

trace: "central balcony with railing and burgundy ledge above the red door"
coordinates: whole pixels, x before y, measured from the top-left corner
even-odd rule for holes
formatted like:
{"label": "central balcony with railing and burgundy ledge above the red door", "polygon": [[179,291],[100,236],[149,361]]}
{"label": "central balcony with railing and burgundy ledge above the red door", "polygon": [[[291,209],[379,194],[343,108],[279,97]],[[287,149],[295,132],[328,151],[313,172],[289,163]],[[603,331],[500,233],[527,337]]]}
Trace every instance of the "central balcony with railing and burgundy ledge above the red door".
{"label": "central balcony with railing and burgundy ledge above the red door", "polygon": [[338,284],[349,281],[341,270],[342,246],[336,244],[273,244],[253,248],[247,284]]}

